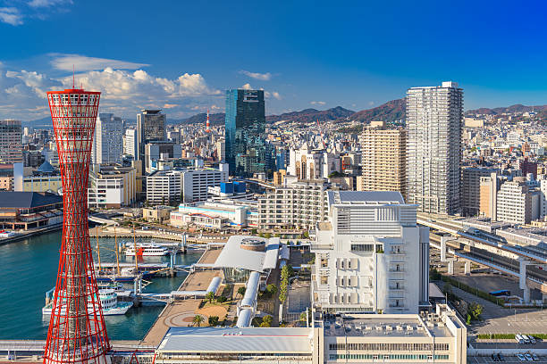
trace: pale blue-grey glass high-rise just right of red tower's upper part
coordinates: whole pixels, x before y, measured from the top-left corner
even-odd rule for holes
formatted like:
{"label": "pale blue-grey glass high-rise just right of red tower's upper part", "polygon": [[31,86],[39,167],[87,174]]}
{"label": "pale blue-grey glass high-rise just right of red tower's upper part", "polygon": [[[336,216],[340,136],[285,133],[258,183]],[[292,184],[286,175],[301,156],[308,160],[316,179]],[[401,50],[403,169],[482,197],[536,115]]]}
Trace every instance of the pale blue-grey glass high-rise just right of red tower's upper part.
{"label": "pale blue-grey glass high-rise just right of red tower's upper part", "polygon": [[123,153],[122,118],[111,113],[100,113],[95,128],[93,163],[120,163]]}

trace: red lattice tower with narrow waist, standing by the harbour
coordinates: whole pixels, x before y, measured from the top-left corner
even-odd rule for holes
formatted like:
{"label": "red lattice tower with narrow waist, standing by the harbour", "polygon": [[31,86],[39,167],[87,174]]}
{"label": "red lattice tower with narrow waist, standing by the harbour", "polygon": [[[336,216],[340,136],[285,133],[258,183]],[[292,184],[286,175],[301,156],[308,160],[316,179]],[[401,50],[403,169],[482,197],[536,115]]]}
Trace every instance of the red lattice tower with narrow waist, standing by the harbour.
{"label": "red lattice tower with narrow waist, standing by the harbour", "polygon": [[100,92],[47,93],[63,180],[63,242],[44,364],[105,363],[110,350],[88,230],[88,174]]}

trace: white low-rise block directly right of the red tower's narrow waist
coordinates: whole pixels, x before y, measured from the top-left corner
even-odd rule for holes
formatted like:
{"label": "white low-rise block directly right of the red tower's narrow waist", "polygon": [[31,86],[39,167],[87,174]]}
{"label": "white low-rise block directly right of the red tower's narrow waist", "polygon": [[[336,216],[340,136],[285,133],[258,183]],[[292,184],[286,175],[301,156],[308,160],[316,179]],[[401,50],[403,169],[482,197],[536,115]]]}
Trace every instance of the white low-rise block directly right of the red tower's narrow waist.
{"label": "white low-rise block directly right of the red tower's narrow waist", "polygon": [[95,164],[89,172],[88,207],[118,209],[137,200],[137,170],[119,164]]}

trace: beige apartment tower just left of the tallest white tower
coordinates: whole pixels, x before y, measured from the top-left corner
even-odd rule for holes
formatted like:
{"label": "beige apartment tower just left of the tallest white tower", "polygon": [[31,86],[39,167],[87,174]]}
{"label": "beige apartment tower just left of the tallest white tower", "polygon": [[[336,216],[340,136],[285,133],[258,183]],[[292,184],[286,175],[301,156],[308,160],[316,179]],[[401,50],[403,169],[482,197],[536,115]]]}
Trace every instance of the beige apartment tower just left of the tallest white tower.
{"label": "beige apartment tower just left of the tallest white tower", "polygon": [[399,191],[406,194],[407,132],[386,128],[385,122],[373,121],[361,134],[362,178],[359,191]]}

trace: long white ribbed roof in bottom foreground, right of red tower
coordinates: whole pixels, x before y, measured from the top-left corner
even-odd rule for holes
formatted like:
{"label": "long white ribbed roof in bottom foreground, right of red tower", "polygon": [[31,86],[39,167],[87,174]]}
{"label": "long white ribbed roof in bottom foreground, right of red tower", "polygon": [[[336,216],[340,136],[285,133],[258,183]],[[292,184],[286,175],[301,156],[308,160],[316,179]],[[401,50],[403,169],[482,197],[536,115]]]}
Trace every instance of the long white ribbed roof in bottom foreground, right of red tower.
{"label": "long white ribbed roof in bottom foreground, right of red tower", "polygon": [[158,352],[312,352],[307,327],[171,327]]}

